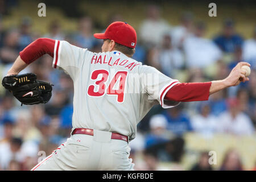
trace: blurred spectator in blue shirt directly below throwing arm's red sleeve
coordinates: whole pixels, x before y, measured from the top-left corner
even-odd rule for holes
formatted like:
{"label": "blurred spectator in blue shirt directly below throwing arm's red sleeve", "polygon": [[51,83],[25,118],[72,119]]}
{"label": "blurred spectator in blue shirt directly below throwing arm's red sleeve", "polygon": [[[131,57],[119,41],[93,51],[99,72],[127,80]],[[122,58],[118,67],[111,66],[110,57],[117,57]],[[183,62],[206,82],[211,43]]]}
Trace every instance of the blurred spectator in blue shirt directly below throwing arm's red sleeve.
{"label": "blurred spectator in blue shirt directly below throwing arm's red sleeve", "polygon": [[192,131],[191,121],[182,110],[182,105],[163,111],[164,117],[168,121],[167,130],[176,135],[182,135],[185,132]]}

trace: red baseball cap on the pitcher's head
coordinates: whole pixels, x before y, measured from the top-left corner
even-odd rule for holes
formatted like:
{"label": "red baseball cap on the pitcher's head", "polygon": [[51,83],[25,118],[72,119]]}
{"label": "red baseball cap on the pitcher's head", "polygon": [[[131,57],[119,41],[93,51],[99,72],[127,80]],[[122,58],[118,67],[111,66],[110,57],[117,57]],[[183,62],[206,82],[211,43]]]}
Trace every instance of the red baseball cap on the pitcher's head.
{"label": "red baseball cap on the pitcher's head", "polygon": [[130,48],[135,48],[137,43],[136,31],[125,22],[113,22],[106,28],[105,33],[94,34],[94,37],[114,40],[114,42]]}

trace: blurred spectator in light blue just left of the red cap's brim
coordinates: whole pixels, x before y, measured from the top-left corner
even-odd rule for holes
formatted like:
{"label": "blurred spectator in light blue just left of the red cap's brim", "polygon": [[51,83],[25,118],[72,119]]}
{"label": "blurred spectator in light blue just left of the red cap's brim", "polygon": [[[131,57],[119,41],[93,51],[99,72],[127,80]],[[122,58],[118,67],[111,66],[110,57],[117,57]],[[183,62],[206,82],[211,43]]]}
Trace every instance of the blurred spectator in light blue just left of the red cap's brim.
{"label": "blurred spectator in light blue just left of the red cap's brim", "polygon": [[82,17],[79,20],[79,31],[74,35],[74,40],[77,46],[82,48],[92,49],[97,44],[97,40],[94,38],[92,29],[93,22],[89,16]]}

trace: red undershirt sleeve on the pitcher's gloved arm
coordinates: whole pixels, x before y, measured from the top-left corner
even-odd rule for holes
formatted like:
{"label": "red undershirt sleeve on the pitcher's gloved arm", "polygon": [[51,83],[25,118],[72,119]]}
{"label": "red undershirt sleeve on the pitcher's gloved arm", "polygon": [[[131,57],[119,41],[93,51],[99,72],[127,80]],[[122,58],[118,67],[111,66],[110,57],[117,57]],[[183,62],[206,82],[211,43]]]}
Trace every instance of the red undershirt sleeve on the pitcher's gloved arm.
{"label": "red undershirt sleeve on the pitcher's gloved arm", "polygon": [[46,53],[53,57],[54,46],[55,40],[39,38],[24,48],[23,51],[20,51],[19,56],[25,63],[30,64]]}

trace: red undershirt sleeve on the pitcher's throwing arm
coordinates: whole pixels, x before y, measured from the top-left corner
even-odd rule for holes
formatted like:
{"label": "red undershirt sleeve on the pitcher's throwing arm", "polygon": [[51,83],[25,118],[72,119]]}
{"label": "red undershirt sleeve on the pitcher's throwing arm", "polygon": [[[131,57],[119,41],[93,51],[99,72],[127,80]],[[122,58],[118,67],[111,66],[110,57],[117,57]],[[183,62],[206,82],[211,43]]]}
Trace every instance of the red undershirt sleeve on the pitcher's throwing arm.
{"label": "red undershirt sleeve on the pitcher's throwing arm", "polygon": [[212,82],[192,82],[174,85],[166,95],[165,100],[178,102],[207,101]]}

